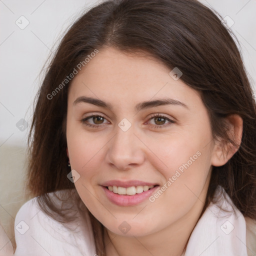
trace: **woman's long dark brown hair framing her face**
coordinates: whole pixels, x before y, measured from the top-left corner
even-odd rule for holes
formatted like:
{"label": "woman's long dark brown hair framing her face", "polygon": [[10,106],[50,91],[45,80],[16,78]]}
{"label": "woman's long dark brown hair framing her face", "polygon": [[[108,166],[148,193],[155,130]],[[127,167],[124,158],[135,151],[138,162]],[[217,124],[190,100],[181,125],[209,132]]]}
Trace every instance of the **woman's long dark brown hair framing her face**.
{"label": "woman's long dark brown hair framing her face", "polygon": [[[234,143],[224,118],[234,113],[242,117],[241,145],[226,164],[213,166],[204,209],[216,186],[221,185],[244,216],[256,219],[256,106],[252,89],[231,32],[217,14],[196,0],[107,0],[69,28],[46,70],[29,134],[27,187],[31,196],[39,195],[41,209],[59,221],[71,220],[47,194],[74,188],[66,176],[70,171],[65,136],[69,82],[52,99],[47,95],[88,54],[107,46],[131,54],[146,52],[170,70],[178,67],[182,81],[201,93],[214,138]],[[80,204],[77,192],[70,196]],[[105,255],[103,226],[91,214],[90,218],[97,254]]]}

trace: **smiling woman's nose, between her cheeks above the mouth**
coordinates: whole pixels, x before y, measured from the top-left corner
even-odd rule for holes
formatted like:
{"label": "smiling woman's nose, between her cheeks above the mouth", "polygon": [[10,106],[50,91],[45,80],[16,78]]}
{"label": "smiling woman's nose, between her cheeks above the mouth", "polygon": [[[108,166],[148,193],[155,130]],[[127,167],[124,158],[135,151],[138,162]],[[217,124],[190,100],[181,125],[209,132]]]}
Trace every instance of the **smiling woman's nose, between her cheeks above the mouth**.
{"label": "smiling woman's nose, between her cheeks above the mouth", "polygon": [[143,143],[134,134],[132,125],[123,131],[117,127],[117,132],[107,143],[106,161],[118,170],[128,170],[144,161]]}

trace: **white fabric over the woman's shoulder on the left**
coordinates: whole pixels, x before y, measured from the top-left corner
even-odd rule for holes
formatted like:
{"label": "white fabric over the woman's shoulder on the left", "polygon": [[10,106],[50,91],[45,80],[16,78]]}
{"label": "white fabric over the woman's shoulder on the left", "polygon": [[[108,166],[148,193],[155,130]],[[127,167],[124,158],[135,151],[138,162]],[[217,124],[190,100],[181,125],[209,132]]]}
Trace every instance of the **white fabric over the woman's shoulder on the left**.
{"label": "white fabric over the woman's shoulder on the left", "polygon": [[[61,190],[57,195],[65,193],[65,190]],[[62,201],[53,195],[47,194],[54,197],[56,206],[61,205]],[[85,218],[84,223],[77,215],[73,222],[59,222],[40,208],[38,199],[34,197],[25,202],[16,214],[14,255],[93,255],[94,242],[89,218]]]}

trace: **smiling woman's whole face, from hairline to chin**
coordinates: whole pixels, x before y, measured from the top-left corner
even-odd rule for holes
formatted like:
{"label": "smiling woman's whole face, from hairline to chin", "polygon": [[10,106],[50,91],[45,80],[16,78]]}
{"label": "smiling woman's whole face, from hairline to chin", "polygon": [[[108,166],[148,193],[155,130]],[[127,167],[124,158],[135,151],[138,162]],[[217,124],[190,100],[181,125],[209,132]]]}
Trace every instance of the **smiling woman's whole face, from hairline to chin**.
{"label": "smiling woman's whole face, from hairline to chin", "polygon": [[116,234],[157,232],[199,217],[203,207],[215,161],[209,117],[198,92],[170,71],[157,60],[105,48],[69,88],[74,184]]}

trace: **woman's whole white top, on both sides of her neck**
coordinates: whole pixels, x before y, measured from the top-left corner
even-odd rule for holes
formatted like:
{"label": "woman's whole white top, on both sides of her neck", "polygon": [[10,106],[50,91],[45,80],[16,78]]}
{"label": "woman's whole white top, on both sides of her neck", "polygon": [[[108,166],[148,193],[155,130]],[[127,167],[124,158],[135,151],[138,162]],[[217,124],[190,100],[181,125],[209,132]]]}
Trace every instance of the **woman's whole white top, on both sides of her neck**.
{"label": "woman's whole white top, on both sides of her neck", "polygon": [[[216,193],[220,189],[222,188],[218,187]],[[24,203],[16,214],[14,229],[17,248],[15,256],[96,255],[87,213],[86,223],[81,222],[78,216],[75,223],[69,224],[73,230],[69,231],[62,223],[43,213],[39,209],[36,199],[35,197]],[[246,249],[246,223],[243,215],[236,208],[228,214],[220,210],[218,205],[225,209],[231,209],[230,201],[228,202],[223,197],[218,204],[210,203],[194,227],[184,255],[255,255],[255,247],[252,248],[252,246],[255,246],[256,239],[252,243],[247,243],[248,248]],[[254,238],[255,234],[256,231],[252,234]],[[250,237],[252,236],[250,235]]]}

